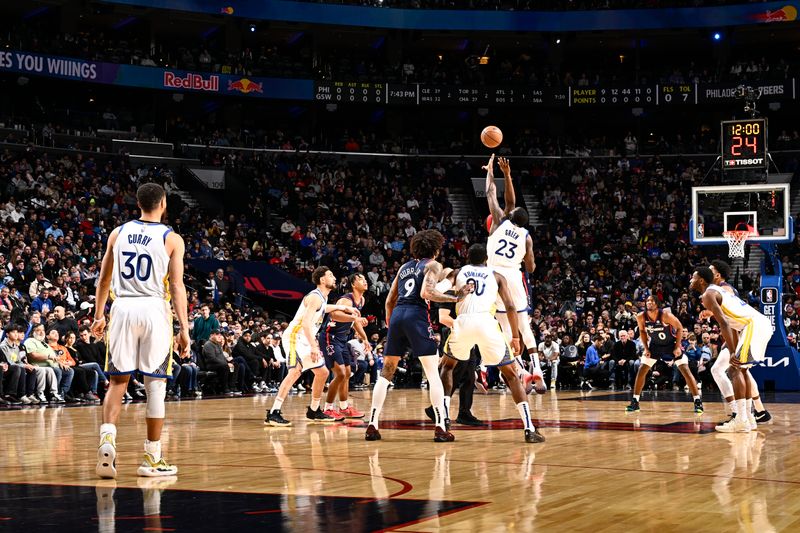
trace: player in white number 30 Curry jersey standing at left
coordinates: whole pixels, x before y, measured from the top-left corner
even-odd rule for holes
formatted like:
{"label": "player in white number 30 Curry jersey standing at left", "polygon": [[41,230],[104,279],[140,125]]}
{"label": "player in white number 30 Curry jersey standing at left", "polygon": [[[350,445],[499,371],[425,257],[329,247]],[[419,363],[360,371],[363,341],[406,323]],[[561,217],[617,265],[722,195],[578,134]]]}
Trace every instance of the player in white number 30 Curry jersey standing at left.
{"label": "player in white number 30 Curry jersey standing at left", "polygon": [[106,329],[105,307],[112,291],[114,303],[106,339],[106,372],[111,383],[103,401],[103,425],[97,450],[96,472],[115,478],[117,421],[128,380],[135,372],[144,374],[147,391],[147,440],[140,476],[174,476],[178,468],[161,455],[164,426],[164,398],[167,379],[172,376],[172,312],[178,318],[178,347],[189,355],[189,319],[186,288],[183,285],[185,246],[180,235],[161,223],[167,209],[167,195],[155,183],[136,191],[141,210],[108,236],[106,253],[97,283],[92,334],[101,337]]}

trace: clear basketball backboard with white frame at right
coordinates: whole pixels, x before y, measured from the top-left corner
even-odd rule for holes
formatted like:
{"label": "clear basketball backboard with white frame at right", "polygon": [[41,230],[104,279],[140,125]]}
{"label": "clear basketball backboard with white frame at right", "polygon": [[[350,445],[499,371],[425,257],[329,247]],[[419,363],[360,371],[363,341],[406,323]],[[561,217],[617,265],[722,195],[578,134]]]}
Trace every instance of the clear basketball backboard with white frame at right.
{"label": "clear basketball backboard with white frame at right", "polygon": [[791,242],[789,185],[753,184],[692,187],[689,239],[695,245],[726,244],[724,231],[755,232],[748,243]]}

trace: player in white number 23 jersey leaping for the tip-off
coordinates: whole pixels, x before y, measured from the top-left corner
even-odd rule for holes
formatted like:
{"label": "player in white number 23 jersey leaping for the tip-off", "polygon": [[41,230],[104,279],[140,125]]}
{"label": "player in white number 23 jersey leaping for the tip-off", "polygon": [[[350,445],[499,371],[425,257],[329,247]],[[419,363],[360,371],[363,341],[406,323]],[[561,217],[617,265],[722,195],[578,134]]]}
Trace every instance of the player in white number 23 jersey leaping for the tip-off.
{"label": "player in white number 23 jersey leaping for the tip-off", "polygon": [[489,158],[489,163],[483,167],[486,170],[486,199],[489,202],[491,224],[487,224],[489,239],[486,245],[489,256],[488,264],[497,273],[501,274],[508,282],[509,292],[513,299],[513,307],[507,309],[502,300],[497,301],[497,321],[506,335],[506,340],[511,341],[512,332],[508,314],[516,313],[522,342],[531,358],[532,372],[524,372],[522,362],[519,361],[519,370],[523,381],[533,380],[536,392],[544,394],[547,386],[542,374],[539,354],[537,351],[536,337],[531,330],[531,321],[528,317],[528,289],[525,281],[526,274],[520,270],[525,266],[525,271],[533,273],[536,263],[533,256],[533,239],[531,239],[526,226],[528,225],[528,212],[516,207],[514,184],[511,180],[511,166],[501,157],[498,165],[505,176],[505,210],[500,209],[497,202],[497,187],[494,184],[494,154]]}

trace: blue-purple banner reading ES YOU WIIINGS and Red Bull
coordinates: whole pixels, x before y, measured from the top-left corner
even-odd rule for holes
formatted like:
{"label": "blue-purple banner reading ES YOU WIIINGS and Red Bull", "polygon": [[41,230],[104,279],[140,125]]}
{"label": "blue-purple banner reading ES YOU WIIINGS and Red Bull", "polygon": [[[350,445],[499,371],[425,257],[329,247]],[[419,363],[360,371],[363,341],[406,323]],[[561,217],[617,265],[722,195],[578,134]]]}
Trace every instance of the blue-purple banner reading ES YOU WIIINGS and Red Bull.
{"label": "blue-purple banner reading ES YOU WIIINGS and Red Bull", "polygon": [[118,65],[17,50],[0,51],[0,73],[2,72],[106,85],[249,98],[311,100],[314,96],[314,82],[311,80],[246,78],[230,74]]}

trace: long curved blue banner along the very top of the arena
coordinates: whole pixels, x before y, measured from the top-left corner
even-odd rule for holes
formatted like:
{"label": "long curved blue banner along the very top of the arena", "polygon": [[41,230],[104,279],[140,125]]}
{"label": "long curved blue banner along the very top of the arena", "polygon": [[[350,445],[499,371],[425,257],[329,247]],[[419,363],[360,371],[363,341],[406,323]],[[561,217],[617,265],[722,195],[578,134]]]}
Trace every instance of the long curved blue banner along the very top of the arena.
{"label": "long curved blue banner along the very top of the arena", "polygon": [[800,2],[750,2],[731,6],[597,11],[480,11],[395,9],[287,0],[102,0],[250,20],[366,26],[409,30],[608,31],[720,28],[797,20]]}

